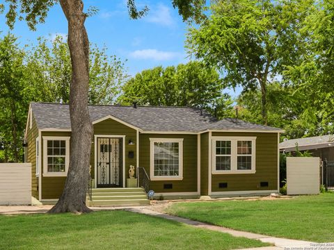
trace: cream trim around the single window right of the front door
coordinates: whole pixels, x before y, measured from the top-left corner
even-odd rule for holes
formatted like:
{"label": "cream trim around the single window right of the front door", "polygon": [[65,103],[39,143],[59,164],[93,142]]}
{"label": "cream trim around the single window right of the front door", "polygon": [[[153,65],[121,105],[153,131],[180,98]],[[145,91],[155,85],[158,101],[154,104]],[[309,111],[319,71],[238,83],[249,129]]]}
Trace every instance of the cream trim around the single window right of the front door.
{"label": "cream trim around the single window right of the front door", "polygon": [[[179,143],[179,175],[154,176],[154,142]],[[150,138],[150,180],[151,181],[182,181],[183,180],[183,138]]]}

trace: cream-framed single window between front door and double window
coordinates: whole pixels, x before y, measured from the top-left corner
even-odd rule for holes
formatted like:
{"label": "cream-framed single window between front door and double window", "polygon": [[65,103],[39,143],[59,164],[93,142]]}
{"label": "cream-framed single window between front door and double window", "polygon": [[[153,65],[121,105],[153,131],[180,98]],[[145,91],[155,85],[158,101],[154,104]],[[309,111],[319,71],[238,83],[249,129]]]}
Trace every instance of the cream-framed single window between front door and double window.
{"label": "cream-framed single window between front door and double window", "polygon": [[150,138],[150,179],[182,180],[182,158],[182,138]]}

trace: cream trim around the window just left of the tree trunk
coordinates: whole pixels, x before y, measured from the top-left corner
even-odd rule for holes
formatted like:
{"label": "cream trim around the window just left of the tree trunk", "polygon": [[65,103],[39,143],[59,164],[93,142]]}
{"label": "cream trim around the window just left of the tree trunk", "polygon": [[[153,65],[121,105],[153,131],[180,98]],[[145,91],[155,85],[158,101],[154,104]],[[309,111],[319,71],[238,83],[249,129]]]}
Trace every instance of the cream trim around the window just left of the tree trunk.
{"label": "cream trim around the window just left of the tree trunk", "polygon": [[[65,172],[47,172],[47,140],[65,140]],[[67,176],[70,163],[70,136],[43,136],[43,176]]]}

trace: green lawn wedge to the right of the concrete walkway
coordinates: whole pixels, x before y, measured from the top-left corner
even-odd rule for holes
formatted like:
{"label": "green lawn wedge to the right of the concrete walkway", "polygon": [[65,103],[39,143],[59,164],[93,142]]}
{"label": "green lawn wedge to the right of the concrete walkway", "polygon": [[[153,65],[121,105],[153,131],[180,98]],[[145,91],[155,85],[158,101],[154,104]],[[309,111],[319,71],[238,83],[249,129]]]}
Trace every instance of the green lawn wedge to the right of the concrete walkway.
{"label": "green lawn wedge to the right of the concrete walkway", "polygon": [[334,241],[334,194],[262,201],[174,203],[167,213],[276,237]]}

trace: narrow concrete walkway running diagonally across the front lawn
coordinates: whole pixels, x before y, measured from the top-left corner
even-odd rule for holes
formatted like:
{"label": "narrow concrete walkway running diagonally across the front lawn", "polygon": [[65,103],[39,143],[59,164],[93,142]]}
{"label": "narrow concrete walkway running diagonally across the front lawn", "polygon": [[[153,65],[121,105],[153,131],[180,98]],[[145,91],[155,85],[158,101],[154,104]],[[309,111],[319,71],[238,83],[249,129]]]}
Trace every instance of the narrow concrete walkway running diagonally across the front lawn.
{"label": "narrow concrete walkway running diagonally across the front lawn", "polygon": [[[144,215],[151,215],[151,216],[155,216],[155,217],[161,217],[164,219],[170,219],[173,220],[175,222],[181,222],[184,224],[188,224],[190,226],[194,226],[197,228],[205,228],[208,230],[212,230],[212,231],[218,231],[221,233],[228,233],[232,236],[236,236],[236,237],[244,237],[244,238],[248,238],[248,239],[254,239],[254,240],[260,240],[262,242],[267,242],[267,243],[271,243],[274,244],[275,247],[260,247],[258,249],[268,249],[268,250],[273,250],[273,249],[288,249],[288,248],[305,248],[305,247],[312,247],[312,244],[315,244],[315,242],[307,242],[307,241],[303,241],[303,240],[289,240],[289,239],[285,239],[285,238],[276,238],[276,237],[271,237],[271,236],[267,236],[267,235],[260,235],[257,233],[248,233],[248,232],[244,232],[244,231],[237,231],[237,230],[233,230],[230,228],[224,228],[222,226],[214,226],[211,224],[207,224],[204,222],[196,222],[193,221],[191,219],[185,219],[182,217],[177,217],[174,215],[166,215],[164,213],[158,213],[156,211],[152,211],[149,210],[147,208],[126,208],[125,210],[129,211],[129,212],[134,212],[134,213],[141,213]],[[249,250],[249,249],[248,249]]]}

